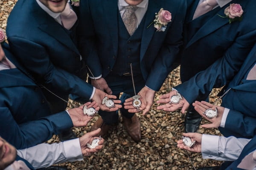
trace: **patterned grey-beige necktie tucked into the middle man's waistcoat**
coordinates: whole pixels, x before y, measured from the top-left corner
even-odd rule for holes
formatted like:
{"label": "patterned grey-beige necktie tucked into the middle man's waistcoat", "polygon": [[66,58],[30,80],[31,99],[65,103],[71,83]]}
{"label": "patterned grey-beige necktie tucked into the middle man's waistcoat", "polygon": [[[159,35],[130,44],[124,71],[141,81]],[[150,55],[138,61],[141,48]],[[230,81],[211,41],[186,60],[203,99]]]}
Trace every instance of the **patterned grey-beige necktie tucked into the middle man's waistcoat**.
{"label": "patterned grey-beige necktie tucked into the middle man's waistcoat", "polygon": [[134,13],[136,9],[138,9],[137,6],[125,6],[125,12],[122,16],[122,20],[130,35],[133,35],[135,30],[137,29],[137,18]]}

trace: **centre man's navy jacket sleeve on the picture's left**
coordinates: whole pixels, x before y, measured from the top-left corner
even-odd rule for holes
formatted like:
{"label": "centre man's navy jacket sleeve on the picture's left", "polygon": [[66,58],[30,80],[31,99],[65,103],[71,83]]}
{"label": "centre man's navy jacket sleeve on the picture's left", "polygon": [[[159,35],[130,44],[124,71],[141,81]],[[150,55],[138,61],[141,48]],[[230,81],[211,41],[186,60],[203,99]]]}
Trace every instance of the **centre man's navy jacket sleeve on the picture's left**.
{"label": "centre man's navy jacket sleeve on the picture's left", "polygon": [[77,14],[78,18],[82,20],[79,22],[77,31],[79,52],[93,73],[93,75],[90,72],[88,74],[92,77],[98,77],[102,74],[102,66],[96,49],[96,35],[88,1],[80,1],[79,9],[82,9]]}

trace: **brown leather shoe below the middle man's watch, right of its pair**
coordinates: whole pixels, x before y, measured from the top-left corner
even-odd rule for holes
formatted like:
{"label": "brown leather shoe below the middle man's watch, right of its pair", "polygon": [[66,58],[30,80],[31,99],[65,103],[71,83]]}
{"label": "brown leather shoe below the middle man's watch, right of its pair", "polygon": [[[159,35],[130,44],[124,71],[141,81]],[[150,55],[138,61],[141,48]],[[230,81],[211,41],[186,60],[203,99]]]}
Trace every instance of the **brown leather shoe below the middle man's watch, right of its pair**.
{"label": "brown leather shoe below the middle man's watch, right of its pair", "polygon": [[122,118],[128,134],[134,141],[139,142],[141,139],[141,130],[140,120],[137,115],[134,114],[132,118],[126,118],[125,116],[122,116]]}

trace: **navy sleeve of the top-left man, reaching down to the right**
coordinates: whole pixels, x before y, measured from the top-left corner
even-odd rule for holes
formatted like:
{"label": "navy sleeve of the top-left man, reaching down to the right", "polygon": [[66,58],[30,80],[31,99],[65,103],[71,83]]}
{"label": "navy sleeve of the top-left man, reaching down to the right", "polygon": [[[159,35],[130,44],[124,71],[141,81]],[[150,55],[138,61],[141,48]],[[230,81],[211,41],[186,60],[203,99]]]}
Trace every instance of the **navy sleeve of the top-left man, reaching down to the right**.
{"label": "navy sleeve of the top-left man, reaching down to the right", "polygon": [[[8,40],[12,52],[19,57],[23,65],[29,69],[29,72],[33,73],[40,83],[52,88],[58,88],[60,92],[72,93],[87,99],[90,98],[93,86],[85,83],[76,75],[55,67],[50,61],[44,46],[20,37],[9,37]],[[42,80],[43,82],[41,82]]]}

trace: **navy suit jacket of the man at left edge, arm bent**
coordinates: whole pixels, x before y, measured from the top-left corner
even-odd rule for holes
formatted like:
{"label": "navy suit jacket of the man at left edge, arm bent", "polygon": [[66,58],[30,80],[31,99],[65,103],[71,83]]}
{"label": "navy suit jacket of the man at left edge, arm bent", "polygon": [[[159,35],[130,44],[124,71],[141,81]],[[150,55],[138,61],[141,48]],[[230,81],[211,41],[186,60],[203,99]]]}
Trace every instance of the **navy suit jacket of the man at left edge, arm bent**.
{"label": "navy suit jacket of the man at left edge, arm bent", "polygon": [[[6,44],[3,50],[18,66]],[[41,88],[19,69],[0,71],[0,80],[0,136],[17,149],[41,144],[73,127],[66,111],[50,115]]]}

